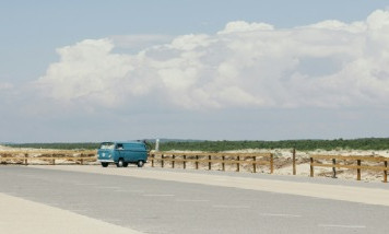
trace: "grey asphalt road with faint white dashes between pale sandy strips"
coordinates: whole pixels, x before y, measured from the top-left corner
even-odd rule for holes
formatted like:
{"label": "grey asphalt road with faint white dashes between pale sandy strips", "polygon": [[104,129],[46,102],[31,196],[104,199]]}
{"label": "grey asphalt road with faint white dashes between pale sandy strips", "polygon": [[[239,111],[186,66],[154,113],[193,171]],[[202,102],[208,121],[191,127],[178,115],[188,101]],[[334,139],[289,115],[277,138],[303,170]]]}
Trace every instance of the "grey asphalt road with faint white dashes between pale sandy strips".
{"label": "grey asphalt road with faint white dashes between pale sandy strips", "polygon": [[132,176],[0,166],[0,192],[143,233],[389,233],[387,206]]}

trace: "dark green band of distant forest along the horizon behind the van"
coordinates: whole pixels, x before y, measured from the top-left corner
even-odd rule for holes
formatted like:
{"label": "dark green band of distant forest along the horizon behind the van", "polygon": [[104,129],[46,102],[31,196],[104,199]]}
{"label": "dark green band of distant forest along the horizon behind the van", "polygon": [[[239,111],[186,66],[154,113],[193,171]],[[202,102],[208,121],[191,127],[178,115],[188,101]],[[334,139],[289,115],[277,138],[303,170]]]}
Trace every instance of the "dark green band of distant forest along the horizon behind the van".
{"label": "dark green band of distant forest along the horizon behind the van", "polygon": [[[155,141],[148,140],[151,149],[155,149]],[[61,150],[94,150],[99,143],[23,143],[7,144],[13,148],[61,149]],[[292,149],[308,150],[389,150],[389,138],[364,138],[354,140],[284,140],[284,141],[185,141],[162,140],[161,151],[188,150],[188,151],[227,151],[244,149]]]}

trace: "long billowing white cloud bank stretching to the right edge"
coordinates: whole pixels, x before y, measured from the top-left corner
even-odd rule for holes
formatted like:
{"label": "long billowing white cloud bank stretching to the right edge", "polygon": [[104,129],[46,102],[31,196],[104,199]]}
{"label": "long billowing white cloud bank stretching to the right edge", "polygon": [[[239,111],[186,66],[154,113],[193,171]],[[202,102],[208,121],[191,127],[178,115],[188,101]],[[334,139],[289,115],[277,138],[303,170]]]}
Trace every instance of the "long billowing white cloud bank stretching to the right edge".
{"label": "long billowing white cloud bank stretching to the right edge", "polygon": [[58,49],[36,84],[57,101],[108,107],[144,98],[191,109],[389,104],[389,11],[284,30],[231,22],[138,54],[114,52],[116,43]]}

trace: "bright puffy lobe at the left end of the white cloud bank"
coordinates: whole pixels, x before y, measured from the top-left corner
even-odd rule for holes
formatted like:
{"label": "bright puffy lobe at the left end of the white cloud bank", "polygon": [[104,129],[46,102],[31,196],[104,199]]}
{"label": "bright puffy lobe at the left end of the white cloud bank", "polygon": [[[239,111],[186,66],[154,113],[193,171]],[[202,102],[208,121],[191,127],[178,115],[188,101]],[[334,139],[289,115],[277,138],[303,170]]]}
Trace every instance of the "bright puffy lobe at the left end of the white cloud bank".
{"label": "bright puffy lobe at the left end of the white cloud bank", "polygon": [[120,81],[133,67],[128,56],[111,54],[113,48],[107,39],[85,39],[60,48],[60,61],[50,65],[36,84],[58,101],[115,105],[122,98]]}

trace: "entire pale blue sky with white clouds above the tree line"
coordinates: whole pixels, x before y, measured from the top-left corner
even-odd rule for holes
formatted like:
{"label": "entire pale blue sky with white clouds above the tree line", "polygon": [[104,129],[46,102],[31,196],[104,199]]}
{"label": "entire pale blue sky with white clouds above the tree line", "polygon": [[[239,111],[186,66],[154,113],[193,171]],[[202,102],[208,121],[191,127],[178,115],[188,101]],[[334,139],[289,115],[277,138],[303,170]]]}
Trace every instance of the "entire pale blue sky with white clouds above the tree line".
{"label": "entire pale blue sky with white clouds above the tree line", "polygon": [[389,137],[387,0],[14,0],[0,28],[0,142]]}

